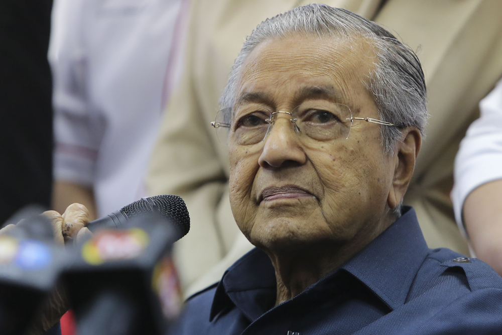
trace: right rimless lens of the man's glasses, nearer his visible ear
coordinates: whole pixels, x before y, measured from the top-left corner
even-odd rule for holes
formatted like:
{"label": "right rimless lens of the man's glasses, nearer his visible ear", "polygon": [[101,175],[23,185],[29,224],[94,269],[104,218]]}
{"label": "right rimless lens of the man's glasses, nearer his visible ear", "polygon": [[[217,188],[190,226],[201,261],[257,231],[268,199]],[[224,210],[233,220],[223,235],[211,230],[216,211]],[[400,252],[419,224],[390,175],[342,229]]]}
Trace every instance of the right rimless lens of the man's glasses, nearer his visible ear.
{"label": "right rimless lens of the man's glasses, nearer his visible ear", "polygon": [[346,139],[350,133],[352,113],[346,105],[333,102],[305,103],[292,113],[301,135],[317,141]]}

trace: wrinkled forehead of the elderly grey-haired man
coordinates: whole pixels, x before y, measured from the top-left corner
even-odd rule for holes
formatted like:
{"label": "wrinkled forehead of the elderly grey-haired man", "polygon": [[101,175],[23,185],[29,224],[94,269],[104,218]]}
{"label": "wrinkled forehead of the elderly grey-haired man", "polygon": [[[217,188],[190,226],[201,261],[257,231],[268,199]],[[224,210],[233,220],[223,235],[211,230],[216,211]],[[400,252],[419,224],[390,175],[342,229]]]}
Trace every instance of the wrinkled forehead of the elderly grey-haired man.
{"label": "wrinkled forehead of the elderly grey-haired man", "polygon": [[[331,92],[342,103],[371,98],[365,82],[376,61],[374,46],[364,38],[291,35],[259,44],[242,64],[236,102],[278,100],[299,92]],[[311,89],[322,88],[321,90]]]}

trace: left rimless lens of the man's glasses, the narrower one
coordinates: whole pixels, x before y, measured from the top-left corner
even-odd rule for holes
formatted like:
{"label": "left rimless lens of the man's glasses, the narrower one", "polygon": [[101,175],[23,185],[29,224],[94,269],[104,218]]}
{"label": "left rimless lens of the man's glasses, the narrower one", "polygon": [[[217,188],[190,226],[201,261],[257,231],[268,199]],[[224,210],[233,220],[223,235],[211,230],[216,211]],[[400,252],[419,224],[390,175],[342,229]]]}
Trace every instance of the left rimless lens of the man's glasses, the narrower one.
{"label": "left rimless lens of the man's glasses, the narrower one", "polygon": [[235,125],[230,134],[231,141],[238,145],[253,145],[261,142],[269,129],[272,114],[269,111],[237,111]]}

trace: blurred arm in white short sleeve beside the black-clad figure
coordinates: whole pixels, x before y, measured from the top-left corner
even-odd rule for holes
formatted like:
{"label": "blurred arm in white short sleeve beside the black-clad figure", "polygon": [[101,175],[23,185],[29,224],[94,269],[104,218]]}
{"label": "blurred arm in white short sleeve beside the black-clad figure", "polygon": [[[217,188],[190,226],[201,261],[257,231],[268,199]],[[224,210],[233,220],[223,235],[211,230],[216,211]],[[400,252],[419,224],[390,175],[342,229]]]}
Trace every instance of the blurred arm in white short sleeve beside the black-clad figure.
{"label": "blurred arm in white short sleeve beside the black-clad figure", "polygon": [[54,183],[52,208],[63,213],[78,202],[96,218],[94,169],[102,122],[91,117],[87,97],[87,58],[81,41],[83,1],[57,0],[52,15],[49,61],[54,92]]}

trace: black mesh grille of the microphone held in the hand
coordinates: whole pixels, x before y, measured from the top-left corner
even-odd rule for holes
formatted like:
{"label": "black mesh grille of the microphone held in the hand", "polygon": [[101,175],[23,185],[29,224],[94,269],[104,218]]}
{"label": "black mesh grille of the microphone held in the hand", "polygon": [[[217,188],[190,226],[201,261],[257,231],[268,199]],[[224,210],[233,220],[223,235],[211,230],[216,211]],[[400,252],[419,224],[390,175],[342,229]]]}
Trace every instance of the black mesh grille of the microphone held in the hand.
{"label": "black mesh grille of the microphone held in the hand", "polygon": [[[183,199],[177,195],[155,195],[150,197],[153,200],[160,215],[167,218],[176,226],[181,236],[185,236],[190,230],[190,216]],[[122,208],[128,218],[142,215],[152,211],[145,199],[130,203]]]}

